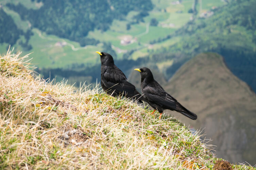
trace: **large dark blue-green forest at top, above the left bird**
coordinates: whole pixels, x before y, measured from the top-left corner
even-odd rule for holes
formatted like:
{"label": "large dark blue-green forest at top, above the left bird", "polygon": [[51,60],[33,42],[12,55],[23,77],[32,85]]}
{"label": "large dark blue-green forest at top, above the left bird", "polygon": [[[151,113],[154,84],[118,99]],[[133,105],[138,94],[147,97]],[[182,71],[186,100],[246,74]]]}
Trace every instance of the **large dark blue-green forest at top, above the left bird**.
{"label": "large dark blue-green forest at top, above the left bird", "polygon": [[95,45],[99,41],[86,38],[89,31],[105,31],[114,19],[122,19],[131,10],[147,12],[153,9],[148,0],[37,0],[44,5],[28,9],[21,3],[7,6],[15,10],[33,27],[61,38],[79,42],[81,46]]}

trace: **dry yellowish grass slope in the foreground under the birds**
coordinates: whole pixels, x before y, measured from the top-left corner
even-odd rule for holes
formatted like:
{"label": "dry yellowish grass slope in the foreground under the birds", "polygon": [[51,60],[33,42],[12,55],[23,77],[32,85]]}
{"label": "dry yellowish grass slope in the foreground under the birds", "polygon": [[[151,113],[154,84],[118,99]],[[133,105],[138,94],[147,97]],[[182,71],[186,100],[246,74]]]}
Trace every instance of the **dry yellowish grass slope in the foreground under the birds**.
{"label": "dry yellowish grass slope in the foreground under the birds", "polygon": [[216,158],[200,136],[177,120],[159,121],[149,110],[98,89],[74,91],[42,81],[23,62],[28,56],[19,55],[0,57],[1,169],[214,166]]}

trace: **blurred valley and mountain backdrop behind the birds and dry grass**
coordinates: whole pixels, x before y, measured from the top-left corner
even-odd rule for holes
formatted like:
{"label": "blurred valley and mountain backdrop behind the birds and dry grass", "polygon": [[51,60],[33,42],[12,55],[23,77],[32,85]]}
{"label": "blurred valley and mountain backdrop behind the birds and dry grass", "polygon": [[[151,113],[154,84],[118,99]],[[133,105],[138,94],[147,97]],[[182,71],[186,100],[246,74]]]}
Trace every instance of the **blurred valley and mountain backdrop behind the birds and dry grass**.
{"label": "blurred valley and mountain backdrop behind the birds and dry grass", "polygon": [[[255,165],[256,0],[0,0],[0,53],[33,52],[44,78],[100,80],[100,58],[140,90],[147,66],[189,110],[218,157]],[[99,81],[98,81],[99,82]]]}

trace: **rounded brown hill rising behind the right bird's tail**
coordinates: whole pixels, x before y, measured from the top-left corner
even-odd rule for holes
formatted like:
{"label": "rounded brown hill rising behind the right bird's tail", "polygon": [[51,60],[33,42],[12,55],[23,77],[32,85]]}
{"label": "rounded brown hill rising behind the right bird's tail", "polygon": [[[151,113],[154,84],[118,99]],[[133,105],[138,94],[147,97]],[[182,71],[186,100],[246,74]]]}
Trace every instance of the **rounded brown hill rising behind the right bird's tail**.
{"label": "rounded brown hill rising behind the right bird's tail", "polygon": [[255,165],[256,95],[226,67],[222,56],[203,53],[185,63],[165,89],[198,114],[197,121],[178,116],[183,123],[204,128],[216,154],[230,162]]}

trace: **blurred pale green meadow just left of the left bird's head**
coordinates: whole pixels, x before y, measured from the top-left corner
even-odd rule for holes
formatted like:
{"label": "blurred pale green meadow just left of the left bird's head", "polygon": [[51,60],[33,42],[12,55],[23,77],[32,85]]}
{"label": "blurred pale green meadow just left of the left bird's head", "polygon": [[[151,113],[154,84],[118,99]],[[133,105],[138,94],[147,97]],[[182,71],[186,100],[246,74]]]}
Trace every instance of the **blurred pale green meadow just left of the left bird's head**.
{"label": "blurred pale green meadow just left of the left bird's head", "polygon": [[[39,31],[40,32],[40,31]],[[98,56],[95,51],[100,51],[102,49],[99,46],[88,46],[86,49],[72,50],[68,45],[63,47],[55,46],[57,42],[66,41],[74,45],[75,48],[80,48],[77,42],[72,42],[67,39],[61,39],[56,36],[47,36],[47,39],[42,39],[38,35],[38,30],[33,29],[34,35],[31,37],[29,43],[36,44],[33,49],[29,52],[33,52],[30,57],[33,58],[33,62],[39,67],[65,67],[72,63],[92,63],[96,64],[98,61]],[[51,38],[52,40],[49,40]]]}

